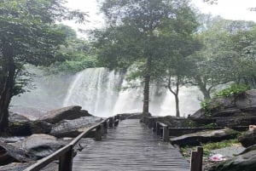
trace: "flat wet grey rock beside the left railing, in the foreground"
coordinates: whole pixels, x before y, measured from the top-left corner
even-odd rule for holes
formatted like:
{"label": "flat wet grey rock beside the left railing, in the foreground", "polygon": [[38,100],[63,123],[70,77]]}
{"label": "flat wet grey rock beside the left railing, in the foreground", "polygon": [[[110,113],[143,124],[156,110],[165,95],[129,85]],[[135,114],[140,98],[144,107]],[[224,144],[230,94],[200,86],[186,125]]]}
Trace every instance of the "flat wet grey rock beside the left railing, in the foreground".
{"label": "flat wet grey rock beside the left railing, in the foreground", "polygon": [[67,145],[67,141],[57,140],[54,136],[48,134],[32,134],[27,137],[26,140],[17,142],[14,145],[33,154],[39,159],[47,157]]}

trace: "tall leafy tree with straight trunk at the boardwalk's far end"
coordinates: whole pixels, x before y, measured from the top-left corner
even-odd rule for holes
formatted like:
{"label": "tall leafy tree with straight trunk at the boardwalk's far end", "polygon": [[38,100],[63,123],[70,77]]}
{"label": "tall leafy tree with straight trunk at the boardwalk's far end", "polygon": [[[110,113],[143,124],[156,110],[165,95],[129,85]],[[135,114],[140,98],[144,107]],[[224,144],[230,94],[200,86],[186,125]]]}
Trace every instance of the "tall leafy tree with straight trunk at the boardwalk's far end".
{"label": "tall leafy tree with straight trunk at the boardwalk's far end", "polygon": [[134,71],[143,80],[143,113],[147,114],[149,84],[163,70],[160,66],[176,32],[182,34],[196,26],[189,20],[193,12],[188,1],[172,0],[106,0],[102,12],[109,26],[95,33],[99,60],[112,68],[140,64]]}

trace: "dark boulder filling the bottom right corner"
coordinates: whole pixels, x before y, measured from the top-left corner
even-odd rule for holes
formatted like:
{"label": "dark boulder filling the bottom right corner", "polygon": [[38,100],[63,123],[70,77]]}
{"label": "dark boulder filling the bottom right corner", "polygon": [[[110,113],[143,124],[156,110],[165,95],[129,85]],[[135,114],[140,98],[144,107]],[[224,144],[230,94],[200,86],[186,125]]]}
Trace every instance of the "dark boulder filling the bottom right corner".
{"label": "dark boulder filling the bottom right corner", "polygon": [[208,171],[254,171],[256,170],[256,146],[251,146],[240,155],[218,162]]}

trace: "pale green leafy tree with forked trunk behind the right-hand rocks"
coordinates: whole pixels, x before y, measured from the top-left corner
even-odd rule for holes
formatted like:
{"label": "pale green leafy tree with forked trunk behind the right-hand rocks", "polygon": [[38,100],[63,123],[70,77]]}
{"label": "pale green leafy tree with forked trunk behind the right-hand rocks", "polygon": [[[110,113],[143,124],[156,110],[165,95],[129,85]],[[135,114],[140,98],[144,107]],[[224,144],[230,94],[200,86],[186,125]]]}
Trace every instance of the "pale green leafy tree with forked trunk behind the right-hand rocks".
{"label": "pale green leafy tree with forked trunk behind the right-hand rocks", "polygon": [[[192,84],[200,88],[204,99],[211,99],[212,91],[220,84],[236,81],[238,63],[241,55],[235,50],[236,41],[230,37],[238,31],[250,30],[254,23],[247,21],[224,20],[220,17],[204,16],[198,36],[204,48],[197,52],[192,60]],[[203,21],[204,20],[204,21]]]}

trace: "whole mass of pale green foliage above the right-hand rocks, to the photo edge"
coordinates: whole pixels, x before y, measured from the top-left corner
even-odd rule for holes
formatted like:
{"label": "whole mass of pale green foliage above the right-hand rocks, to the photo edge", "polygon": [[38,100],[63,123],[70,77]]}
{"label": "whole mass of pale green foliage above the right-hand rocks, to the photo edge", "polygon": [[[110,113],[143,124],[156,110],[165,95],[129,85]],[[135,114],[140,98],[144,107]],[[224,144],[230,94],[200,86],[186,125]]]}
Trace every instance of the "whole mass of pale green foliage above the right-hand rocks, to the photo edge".
{"label": "whole mass of pale green foliage above the right-hand rocks, to the photo edge", "polygon": [[224,20],[220,17],[203,16],[198,37],[204,44],[191,56],[191,83],[210,99],[218,85],[246,83],[256,85],[254,76],[255,37],[251,21]]}

